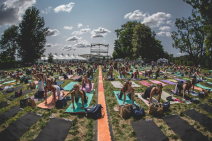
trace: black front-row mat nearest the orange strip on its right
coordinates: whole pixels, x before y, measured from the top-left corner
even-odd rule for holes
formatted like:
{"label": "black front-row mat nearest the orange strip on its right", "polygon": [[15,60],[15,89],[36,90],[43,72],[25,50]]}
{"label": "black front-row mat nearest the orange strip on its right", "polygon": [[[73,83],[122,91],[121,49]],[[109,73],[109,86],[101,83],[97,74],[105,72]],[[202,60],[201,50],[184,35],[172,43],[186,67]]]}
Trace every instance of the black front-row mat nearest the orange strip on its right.
{"label": "black front-row mat nearest the orange strip on its right", "polygon": [[154,121],[135,121],[131,122],[131,125],[136,133],[138,141],[168,141],[160,128],[155,124]]}

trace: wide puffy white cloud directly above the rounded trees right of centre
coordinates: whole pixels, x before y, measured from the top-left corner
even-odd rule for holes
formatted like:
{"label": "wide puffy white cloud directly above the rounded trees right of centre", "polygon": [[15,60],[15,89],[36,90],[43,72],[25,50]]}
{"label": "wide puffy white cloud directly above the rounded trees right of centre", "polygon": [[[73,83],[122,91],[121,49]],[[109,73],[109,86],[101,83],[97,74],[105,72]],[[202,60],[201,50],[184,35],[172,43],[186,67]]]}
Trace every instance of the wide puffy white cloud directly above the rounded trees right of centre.
{"label": "wide puffy white cloud directly above the rounded trees right of centre", "polygon": [[124,18],[129,20],[140,20],[141,23],[150,27],[159,27],[166,19],[171,18],[171,14],[157,12],[155,14],[149,15],[148,13],[142,13],[139,10],[135,10],[133,13],[130,12],[126,14]]}

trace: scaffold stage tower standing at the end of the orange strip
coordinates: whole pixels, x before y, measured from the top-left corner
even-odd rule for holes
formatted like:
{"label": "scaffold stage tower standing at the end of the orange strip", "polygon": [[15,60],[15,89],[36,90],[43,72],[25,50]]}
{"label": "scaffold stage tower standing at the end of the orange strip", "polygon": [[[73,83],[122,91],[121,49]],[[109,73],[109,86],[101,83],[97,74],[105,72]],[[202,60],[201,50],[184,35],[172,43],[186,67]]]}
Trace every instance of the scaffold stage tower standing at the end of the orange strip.
{"label": "scaffold stage tower standing at the end of the orange strip", "polygon": [[90,58],[92,54],[97,54],[98,58],[102,59],[103,57],[107,57],[108,59],[108,51],[109,51],[109,44],[91,44],[90,49]]}

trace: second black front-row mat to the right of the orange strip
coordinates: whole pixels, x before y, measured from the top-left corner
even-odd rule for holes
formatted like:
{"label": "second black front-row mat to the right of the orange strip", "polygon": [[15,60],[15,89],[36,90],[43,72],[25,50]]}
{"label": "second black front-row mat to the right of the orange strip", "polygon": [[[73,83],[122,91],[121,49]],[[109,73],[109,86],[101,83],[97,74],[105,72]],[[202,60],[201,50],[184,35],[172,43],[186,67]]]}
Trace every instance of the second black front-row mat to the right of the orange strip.
{"label": "second black front-row mat to the right of the orange strip", "polygon": [[182,139],[182,141],[208,141],[207,137],[178,115],[165,116],[163,120]]}

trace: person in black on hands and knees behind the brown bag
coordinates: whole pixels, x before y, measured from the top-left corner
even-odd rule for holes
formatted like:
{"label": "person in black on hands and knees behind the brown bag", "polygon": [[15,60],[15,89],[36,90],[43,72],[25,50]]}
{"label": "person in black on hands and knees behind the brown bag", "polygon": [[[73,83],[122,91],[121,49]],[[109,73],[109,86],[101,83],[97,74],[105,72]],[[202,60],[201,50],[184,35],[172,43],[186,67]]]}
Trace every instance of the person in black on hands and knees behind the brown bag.
{"label": "person in black on hands and knees behind the brown bag", "polygon": [[152,101],[152,97],[154,94],[158,94],[158,103],[160,103],[161,94],[162,94],[162,84],[157,84],[157,87],[148,87],[144,93],[140,93],[140,95],[146,99],[149,98],[149,103]]}

